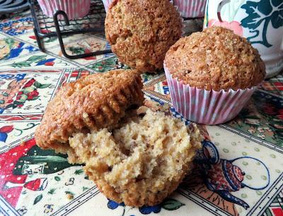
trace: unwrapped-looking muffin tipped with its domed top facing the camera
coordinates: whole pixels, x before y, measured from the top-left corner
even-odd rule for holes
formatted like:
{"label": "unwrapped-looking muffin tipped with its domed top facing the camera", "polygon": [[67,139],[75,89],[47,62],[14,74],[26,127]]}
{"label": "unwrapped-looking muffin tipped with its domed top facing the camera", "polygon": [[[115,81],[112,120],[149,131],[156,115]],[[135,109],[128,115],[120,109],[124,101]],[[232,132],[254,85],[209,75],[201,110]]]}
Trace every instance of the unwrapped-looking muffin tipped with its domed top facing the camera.
{"label": "unwrapped-looking muffin tipped with its domed top facing the camera", "polygon": [[114,0],[105,19],[112,52],[142,72],[162,68],[166,52],[181,33],[180,15],[168,0]]}

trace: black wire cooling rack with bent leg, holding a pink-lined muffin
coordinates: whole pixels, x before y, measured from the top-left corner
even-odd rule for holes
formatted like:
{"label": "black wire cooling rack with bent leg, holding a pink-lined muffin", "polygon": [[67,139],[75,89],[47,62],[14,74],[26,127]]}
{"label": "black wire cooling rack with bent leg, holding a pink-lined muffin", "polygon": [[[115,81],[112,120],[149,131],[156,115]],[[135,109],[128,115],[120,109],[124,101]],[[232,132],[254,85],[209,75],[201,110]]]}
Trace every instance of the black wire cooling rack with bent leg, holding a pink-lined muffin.
{"label": "black wire cooling rack with bent leg, holding a pink-lined muffin", "polygon": [[30,4],[30,11],[35,25],[35,28],[33,29],[35,38],[38,47],[42,52],[45,52],[43,39],[45,37],[57,37],[62,54],[68,59],[79,59],[111,53],[110,49],[105,49],[85,54],[69,55],[66,52],[63,41],[63,36],[67,37],[69,35],[83,33],[104,34],[105,9],[101,0],[92,0],[91,9],[88,15],[73,20],[69,20],[64,11],[56,11],[53,17],[49,18],[43,14],[40,6],[36,3],[36,0],[28,0],[28,2]]}

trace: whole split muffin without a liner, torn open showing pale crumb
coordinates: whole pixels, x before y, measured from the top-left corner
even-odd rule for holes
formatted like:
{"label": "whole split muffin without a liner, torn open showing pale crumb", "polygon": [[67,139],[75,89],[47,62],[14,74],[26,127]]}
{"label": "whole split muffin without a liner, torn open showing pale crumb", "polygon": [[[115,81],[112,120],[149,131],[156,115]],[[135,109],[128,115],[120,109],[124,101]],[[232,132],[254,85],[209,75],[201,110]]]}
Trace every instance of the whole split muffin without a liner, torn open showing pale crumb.
{"label": "whole split muffin without a liner, torn open showing pale crumb", "polygon": [[117,203],[156,205],[192,169],[200,131],[144,102],[139,73],[115,70],[65,85],[35,132],[41,148],[67,152]]}

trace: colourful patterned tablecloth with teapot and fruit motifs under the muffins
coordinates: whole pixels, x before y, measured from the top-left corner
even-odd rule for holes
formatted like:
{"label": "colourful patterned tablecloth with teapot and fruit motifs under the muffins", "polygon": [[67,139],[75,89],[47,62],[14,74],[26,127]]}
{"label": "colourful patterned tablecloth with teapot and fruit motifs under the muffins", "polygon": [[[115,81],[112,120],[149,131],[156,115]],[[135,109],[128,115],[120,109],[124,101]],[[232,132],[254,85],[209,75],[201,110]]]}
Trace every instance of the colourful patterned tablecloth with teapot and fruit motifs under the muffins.
{"label": "colourful patterned tablecloth with teapot and fruit motifs under the muffins", "polygon": [[[282,75],[265,80],[233,121],[200,126],[203,160],[170,198],[130,208],[105,198],[80,165],[41,150],[33,138],[62,84],[127,66],[112,54],[71,61],[54,38],[40,52],[32,20],[26,11],[0,23],[0,215],[283,215]],[[108,47],[100,35],[64,41],[71,54]],[[163,71],[142,78],[151,106],[171,105]]]}

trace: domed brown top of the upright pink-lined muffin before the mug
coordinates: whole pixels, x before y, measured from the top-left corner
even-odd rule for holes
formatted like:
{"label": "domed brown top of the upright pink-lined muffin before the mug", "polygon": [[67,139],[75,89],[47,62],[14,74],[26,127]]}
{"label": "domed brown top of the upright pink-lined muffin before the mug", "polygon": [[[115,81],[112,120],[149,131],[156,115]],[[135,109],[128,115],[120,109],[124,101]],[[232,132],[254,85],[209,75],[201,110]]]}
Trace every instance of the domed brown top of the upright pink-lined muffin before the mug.
{"label": "domed brown top of the upright pink-lined muffin before the mug", "polygon": [[183,37],[164,61],[173,78],[205,90],[238,90],[258,85],[265,64],[246,38],[221,27]]}

